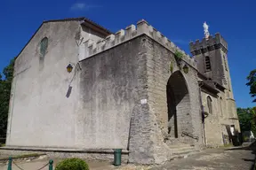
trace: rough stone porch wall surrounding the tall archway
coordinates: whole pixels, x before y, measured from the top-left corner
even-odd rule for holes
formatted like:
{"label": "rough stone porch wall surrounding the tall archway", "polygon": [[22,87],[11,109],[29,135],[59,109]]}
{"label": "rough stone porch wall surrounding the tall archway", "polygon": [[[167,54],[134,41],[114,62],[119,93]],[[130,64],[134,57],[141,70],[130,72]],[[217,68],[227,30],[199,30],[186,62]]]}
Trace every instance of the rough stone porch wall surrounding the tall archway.
{"label": "rough stone porch wall surrounding the tall archway", "polygon": [[[187,87],[188,89],[188,96],[182,99],[180,98],[183,100],[183,102],[180,102],[180,107],[177,108],[180,141],[196,146],[202,144],[202,120],[200,117],[201,113],[197,72],[193,66],[189,66],[185,61],[181,63],[180,69],[176,64],[172,51],[166,49],[161,43],[156,42],[154,39],[144,36],[142,42],[142,47],[145,48],[145,51],[143,50],[142,52],[147,56],[147,89],[150,116],[149,125],[151,125],[150,141],[153,146],[149,151],[151,151],[151,154],[153,153],[151,162],[155,161],[155,163],[161,163],[170,158],[170,155],[172,155],[172,150],[168,147],[167,143],[164,143],[164,134],[166,134],[168,130],[166,86],[169,78],[172,76],[172,73],[179,74],[177,77],[178,80],[175,81],[179,81],[179,79],[181,79],[180,84],[175,84],[173,81],[171,82],[178,90],[176,93],[180,94],[184,92],[182,90],[185,89],[182,89],[182,87]],[[173,64],[172,71],[170,70],[171,63]],[[187,74],[183,73],[182,71],[182,67],[186,64],[189,67]],[[186,131],[191,135],[195,135],[199,140],[196,141],[188,136],[181,136],[181,131]],[[144,145],[142,143],[147,142],[147,139],[140,138],[140,141],[140,143],[137,143],[137,145],[133,146],[131,149],[136,150],[137,148],[139,149],[143,147]],[[141,160],[143,160],[143,153],[138,151],[136,158],[141,158]],[[133,160],[134,156],[132,154],[133,153],[131,151],[129,156],[129,160],[131,161]]]}

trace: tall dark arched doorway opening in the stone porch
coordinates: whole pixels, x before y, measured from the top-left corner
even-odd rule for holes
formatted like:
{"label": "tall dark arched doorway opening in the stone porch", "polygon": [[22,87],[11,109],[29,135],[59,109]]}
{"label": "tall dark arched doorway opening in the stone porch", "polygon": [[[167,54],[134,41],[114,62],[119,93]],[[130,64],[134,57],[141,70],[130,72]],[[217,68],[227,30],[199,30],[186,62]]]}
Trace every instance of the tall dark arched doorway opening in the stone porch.
{"label": "tall dark arched doorway opening in the stone porch", "polygon": [[[192,132],[191,107],[187,82],[180,71],[172,73],[167,86],[168,134],[180,138],[182,132]],[[183,137],[185,140],[186,137]],[[181,139],[182,140],[182,139]]]}

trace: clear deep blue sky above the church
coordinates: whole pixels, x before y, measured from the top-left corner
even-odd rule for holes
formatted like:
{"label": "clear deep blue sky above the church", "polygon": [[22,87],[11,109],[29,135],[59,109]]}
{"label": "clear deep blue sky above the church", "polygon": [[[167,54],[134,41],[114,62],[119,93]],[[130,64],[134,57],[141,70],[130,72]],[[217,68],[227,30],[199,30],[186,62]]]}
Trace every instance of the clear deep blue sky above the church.
{"label": "clear deep blue sky above the church", "polygon": [[203,38],[206,21],[211,35],[220,32],[228,41],[236,105],[255,106],[249,88],[245,86],[246,76],[256,68],[255,6],[256,2],[252,0],[1,0],[0,70],[47,19],[83,16],[113,32],[146,19],[188,53],[188,42]]}

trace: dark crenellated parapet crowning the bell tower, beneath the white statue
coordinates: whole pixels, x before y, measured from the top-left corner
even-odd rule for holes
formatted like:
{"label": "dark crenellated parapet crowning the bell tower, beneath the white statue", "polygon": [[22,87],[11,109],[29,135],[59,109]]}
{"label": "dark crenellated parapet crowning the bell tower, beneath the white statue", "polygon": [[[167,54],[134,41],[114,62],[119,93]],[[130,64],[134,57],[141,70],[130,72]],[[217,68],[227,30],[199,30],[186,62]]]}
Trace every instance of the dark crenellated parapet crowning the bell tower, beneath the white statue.
{"label": "dark crenellated parapet crowning the bell tower, beneath the white statue", "polygon": [[224,52],[228,52],[228,43],[220,33],[215,34],[215,37],[209,36],[207,40],[203,38],[202,42],[199,40],[196,40],[196,42],[190,42],[189,47],[193,56],[216,49],[222,49]]}

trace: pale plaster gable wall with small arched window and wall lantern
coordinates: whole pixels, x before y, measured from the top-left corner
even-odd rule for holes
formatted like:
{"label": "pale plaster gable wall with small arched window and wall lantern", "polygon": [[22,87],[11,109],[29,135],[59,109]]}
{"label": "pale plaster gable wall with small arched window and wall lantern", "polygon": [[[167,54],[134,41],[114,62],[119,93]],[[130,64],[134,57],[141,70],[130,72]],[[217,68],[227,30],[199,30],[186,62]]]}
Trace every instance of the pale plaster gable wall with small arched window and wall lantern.
{"label": "pale plaster gable wall with small arched window and wall lantern", "polygon": [[[48,49],[40,60],[45,36]],[[80,37],[77,21],[44,23],[20,53],[15,61],[7,145],[76,147],[79,73],[74,75],[75,69],[68,73],[66,67],[78,61]],[[66,97],[69,85],[72,90]]]}

